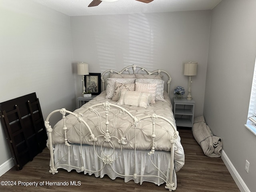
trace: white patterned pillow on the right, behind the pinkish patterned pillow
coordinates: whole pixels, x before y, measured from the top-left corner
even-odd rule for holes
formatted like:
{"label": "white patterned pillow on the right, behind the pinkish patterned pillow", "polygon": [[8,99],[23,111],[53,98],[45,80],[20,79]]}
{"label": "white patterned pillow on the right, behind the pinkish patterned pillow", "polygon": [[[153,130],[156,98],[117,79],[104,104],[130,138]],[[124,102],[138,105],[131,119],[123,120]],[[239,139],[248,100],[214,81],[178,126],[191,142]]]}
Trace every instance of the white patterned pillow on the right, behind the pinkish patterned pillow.
{"label": "white patterned pillow on the right, behind the pinkish patterned pillow", "polygon": [[156,101],[164,100],[164,80],[161,79],[136,79],[138,83],[156,83]]}

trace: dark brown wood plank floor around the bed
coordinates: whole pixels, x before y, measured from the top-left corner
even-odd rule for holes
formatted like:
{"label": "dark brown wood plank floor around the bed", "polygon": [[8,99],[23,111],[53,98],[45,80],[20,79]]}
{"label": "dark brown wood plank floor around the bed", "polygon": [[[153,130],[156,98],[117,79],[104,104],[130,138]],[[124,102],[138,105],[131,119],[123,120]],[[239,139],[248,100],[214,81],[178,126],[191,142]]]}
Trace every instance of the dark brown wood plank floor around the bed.
{"label": "dark brown wood plank floor around the bed", "polygon": [[[178,128],[185,151],[185,165],[177,172],[176,192],[240,192],[221,158],[210,158],[194,140],[191,129]],[[38,154],[32,162],[22,170],[10,169],[0,177],[0,182],[16,181],[13,186],[0,186],[1,192],[164,192],[165,184],[157,186],[143,182],[142,185],[133,181],[125,183],[122,178],[111,180],[108,176],[96,178],[75,171],[59,170],[55,175],[49,171],[49,150]],[[70,181],[74,182],[70,185]],[[18,183],[24,182],[24,183]],[[38,182],[38,186],[24,186],[26,182]],[[39,186],[39,184],[43,184]],[[44,183],[43,183],[44,182]],[[68,182],[68,186],[50,186],[46,182]],[[2,183],[1,183],[2,184]],[[22,186],[23,184],[23,186]],[[77,184],[77,185],[74,185]]]}

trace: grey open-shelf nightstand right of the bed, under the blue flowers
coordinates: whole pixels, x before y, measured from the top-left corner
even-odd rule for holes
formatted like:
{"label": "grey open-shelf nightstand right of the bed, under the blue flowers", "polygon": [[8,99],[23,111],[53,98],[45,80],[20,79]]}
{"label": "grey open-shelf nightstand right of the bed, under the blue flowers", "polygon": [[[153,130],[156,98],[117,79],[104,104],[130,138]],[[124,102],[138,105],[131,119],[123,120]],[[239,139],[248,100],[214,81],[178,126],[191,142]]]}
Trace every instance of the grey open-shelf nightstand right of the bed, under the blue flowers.
{"label": "grey open-shelf nightstand right of the bed, under the blue flowers", "polygon": [[186,98],[174,98],[174,118],[176,126],[192,127],[194,121],[195,101]]}

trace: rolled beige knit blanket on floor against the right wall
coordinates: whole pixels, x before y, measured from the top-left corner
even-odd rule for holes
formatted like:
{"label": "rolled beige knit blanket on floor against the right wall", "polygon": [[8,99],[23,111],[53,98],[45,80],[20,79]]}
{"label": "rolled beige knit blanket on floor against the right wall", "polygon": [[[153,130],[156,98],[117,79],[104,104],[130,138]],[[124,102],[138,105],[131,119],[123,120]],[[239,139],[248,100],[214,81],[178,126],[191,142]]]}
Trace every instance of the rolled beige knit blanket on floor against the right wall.
{"label": "rolled beige knit blanket on floor against the right wall", "polygon": [[194,118],[192,133],[195,140],[201,146],[208,157],[220,157],[222,150],[222,138],[215,136],[204,120],[204,116]]}

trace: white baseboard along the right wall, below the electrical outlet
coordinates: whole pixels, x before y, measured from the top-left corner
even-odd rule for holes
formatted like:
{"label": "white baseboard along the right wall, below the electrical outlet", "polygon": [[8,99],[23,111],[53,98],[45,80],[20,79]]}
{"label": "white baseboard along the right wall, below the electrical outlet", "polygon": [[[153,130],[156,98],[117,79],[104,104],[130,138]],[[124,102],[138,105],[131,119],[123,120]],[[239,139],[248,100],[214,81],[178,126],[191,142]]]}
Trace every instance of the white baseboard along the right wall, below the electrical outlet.
{"label": "white baseboard along the right wall, below the electrical outlet", "polygon": [[228,171],[230,172],[231,176],[233,177],[233,179],[236,182],[236,185],[238,186],[240,191],[241,192],[250,192],[250,190],[248,189],[248,187],[246,186],[246,184],[244,183],[244,181],[242,180],[242,178],[236,171],[236,168],[233,166],[232,162],[229,160],[229,158],[228,158],[227,154],[224,152],[224,150],[222,150],[221,154],[222,154],[221,158],[222,158],[224,164],[228,168]]}

